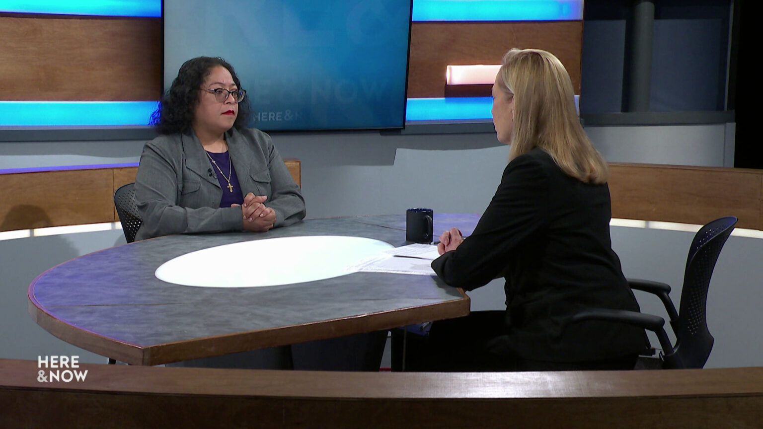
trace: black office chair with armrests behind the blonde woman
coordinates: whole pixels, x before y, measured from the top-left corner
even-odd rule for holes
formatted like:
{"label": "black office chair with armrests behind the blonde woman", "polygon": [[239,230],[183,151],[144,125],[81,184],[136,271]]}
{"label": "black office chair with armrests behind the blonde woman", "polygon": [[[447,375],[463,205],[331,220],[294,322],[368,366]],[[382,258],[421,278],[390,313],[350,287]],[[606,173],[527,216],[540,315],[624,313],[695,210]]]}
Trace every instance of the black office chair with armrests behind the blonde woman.
{"label": "black office chair with armrests behind the blonde woman", "polygon": [[575,314],[570,323],[588,320],[622,321],[649,329],[657,334],[662,347],[662,368],[702,368],[713,350],[713,336],[707,329],[707,288],[713,276],[723,244],[734,230],[737,219],[733,216],[716,219],[703,226],[694,236],[689,248],[681,289],[681,312],[675,310],[668,295],[669,285],[648,280],[629,279],[631,289],[657,295],[668,311],[670,324],[676,337],[672,345],[665,334],[665,320],[652,314],[635,311],[592,308]]}

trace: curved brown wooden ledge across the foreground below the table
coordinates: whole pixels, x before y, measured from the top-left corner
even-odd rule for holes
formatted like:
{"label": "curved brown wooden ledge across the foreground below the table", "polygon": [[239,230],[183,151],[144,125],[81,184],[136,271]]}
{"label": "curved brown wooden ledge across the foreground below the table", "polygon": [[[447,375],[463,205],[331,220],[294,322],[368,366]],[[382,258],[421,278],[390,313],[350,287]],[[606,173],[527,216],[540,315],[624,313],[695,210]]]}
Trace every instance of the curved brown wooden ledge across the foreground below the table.
{"label": "curved brown wooden ledge across the foreground below the table", "polygon": [[763,368],[342,373],[0,360],[0,427],[761,427]]}

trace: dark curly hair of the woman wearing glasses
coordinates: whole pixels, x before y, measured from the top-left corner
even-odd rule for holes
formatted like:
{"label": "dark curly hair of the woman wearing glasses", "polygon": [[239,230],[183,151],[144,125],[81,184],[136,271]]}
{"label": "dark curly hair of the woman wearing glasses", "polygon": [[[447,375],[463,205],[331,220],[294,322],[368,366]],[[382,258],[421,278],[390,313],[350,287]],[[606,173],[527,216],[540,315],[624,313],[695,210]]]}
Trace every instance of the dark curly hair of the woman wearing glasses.
{"label": "dark curly hair of the woman wearing glasses", "polygon": [[[180,66],[178,77],[162,96],[159,108],[151,115],[151,124],[159,134],[187,133],[191,131],[194,109],[198,103],[199,89],[204,79],[209,76],[216,66],[223,66],[233,77],[233,82],[241,89],[241,82],[233,70],[233,66],[225,60],[211,56],[197,56]],[[233,127],[246,127],[250,117],[249,98],[239,103],[238,117]]]}

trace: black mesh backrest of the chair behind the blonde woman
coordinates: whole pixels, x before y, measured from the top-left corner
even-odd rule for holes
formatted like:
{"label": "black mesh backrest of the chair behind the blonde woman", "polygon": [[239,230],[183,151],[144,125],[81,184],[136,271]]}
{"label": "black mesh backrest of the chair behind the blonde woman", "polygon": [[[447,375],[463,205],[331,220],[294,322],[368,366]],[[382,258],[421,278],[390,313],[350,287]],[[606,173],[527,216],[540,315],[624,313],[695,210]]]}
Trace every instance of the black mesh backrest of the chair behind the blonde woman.
{"label": "black mesh backrest of the chair behind the blonde woman", "polygon": [[713,336],[707,329],[707,289],[723,244],[734,230],[733,216],[716,219],[694,236],[689,248],[681,290],[678,319],[671,322],[677,340],[674,353],[665,356],[672,368],[702,368],[713,350]]}

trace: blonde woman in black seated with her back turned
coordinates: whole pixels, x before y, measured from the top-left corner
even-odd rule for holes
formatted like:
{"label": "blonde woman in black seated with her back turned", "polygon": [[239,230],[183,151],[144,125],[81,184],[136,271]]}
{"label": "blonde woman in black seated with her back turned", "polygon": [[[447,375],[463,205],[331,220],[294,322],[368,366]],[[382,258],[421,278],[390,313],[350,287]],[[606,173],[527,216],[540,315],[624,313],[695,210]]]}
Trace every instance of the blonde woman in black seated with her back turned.
{"label": "blonde woman in black seated with her back turned", "polygon": [[565,67],[512,49],[493,85],[497,138],[510,144],[501,184],[469,237],[440,236],[432,268],[476,289],[504,276],[506,311],[435,322],[410,366],[429,370],[633,369],[642,329],[568,326],[587,307],[639,311],[610,240],[607,163],[586,137]]}

